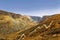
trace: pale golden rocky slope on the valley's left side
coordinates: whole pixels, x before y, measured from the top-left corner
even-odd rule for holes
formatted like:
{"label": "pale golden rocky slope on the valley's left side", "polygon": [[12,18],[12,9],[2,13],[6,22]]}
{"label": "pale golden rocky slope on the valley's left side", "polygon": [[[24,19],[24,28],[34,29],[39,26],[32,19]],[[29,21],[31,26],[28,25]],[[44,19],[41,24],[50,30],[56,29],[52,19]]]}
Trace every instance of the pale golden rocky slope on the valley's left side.
{"label": "pale golden rocky slope on the valley's left side", "polygon": [[18,31],[21,32],[35,25],[36,23],[27,16],[0,10],[0,40],[12,40]]}

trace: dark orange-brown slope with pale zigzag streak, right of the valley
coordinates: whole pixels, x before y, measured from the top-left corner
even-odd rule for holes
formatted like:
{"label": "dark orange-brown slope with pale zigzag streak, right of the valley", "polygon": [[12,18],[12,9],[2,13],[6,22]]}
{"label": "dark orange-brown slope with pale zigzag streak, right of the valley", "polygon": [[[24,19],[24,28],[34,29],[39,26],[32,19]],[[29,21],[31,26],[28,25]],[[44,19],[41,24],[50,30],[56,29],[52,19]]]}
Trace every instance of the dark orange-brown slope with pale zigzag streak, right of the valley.
{"label": "dark orange-brown slope with pale zigzag streak, right of the valley", "polygon": [[60,40],[60,14],[51,15],[28,30],[19,33],[20,40]]}

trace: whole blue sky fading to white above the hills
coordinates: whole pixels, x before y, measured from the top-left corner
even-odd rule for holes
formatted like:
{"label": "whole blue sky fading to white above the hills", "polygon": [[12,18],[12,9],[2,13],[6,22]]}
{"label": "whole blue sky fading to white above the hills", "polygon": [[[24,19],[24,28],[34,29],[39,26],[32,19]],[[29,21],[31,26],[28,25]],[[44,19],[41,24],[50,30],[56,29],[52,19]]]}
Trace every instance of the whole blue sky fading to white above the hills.
{"label": "whole blue sky fading to white above the hills", "polygon": [[0,0],[0,10],[31,16],[52,15],[60,13],[60,0]]}

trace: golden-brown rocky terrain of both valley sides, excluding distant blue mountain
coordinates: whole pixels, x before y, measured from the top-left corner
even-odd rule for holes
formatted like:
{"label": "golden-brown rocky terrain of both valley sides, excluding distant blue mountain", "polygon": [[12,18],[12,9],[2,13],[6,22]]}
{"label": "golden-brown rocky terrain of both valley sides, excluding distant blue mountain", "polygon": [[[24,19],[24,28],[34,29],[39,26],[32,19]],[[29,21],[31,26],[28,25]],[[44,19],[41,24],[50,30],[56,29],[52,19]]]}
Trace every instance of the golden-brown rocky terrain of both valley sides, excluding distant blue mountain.
{"label": "golden-brown rocky terrain of both valley sides, excluding distant blue mountain", "polygon": [[60,14],[37,23],[30,16],[0,10],[0,40],[60,40]]}

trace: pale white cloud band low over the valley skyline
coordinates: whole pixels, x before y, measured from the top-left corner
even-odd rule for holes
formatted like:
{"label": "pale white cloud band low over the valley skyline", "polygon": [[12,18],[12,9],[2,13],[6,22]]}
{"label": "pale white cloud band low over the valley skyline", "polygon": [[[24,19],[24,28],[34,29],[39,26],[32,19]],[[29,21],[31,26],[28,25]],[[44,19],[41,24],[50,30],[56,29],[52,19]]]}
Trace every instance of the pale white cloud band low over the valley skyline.
{"label": "pale white cloud band low over the valley skyline", "polygon": [[37,11],[31,11],[31,12],[16,12],[23,15],[31,15],[31,16],[44,16],[44,15],[53,15],[60,13],[59,9],[46,9],[46,10],[37,10]]}

